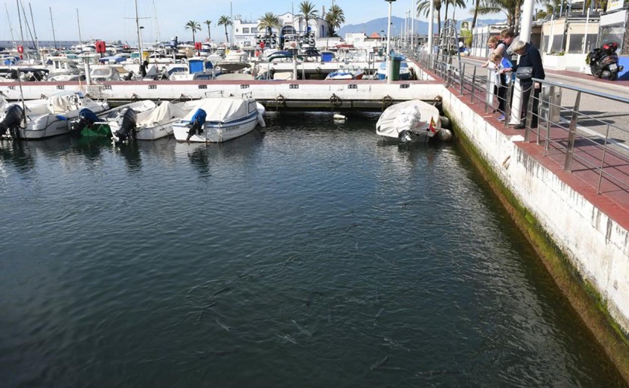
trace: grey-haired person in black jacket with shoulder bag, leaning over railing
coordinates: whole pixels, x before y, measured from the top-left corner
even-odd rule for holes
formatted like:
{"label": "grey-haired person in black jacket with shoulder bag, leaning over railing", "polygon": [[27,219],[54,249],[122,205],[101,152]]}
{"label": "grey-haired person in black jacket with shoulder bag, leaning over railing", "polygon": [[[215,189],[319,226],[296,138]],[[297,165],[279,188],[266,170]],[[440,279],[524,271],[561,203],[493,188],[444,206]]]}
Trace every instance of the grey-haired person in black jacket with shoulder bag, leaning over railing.
{"label": "grey-haired person in black jacket with shoulder bag, leaning over railing", "polygon": [[520,60],[517,65],[514,65],[511,69],[503,69],[501,72],[517,71],[518,67],[532,67],[533,77],[528,79],[520,78],[520,86],[522,88],[522,109],[520,109],[520,124],[514,128],[521,130],[525,128],[526,110],[528,109],[528,99],[531,97],[531,91],[533,91],[533,112],[531,115],[531,128],[537,128],[537,115],[538,115],[538,103],[540,101],[540,91],[542,86],[539,82],[533,82],[533,78],[544,79],[544,68],[542,65],[542,55],[540,50],[537,50],[531,43],[526,43],[521,40],[516,40],[511,43],[511,52],[520,55]]}

